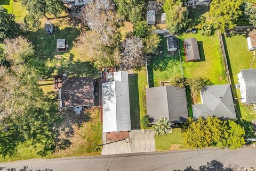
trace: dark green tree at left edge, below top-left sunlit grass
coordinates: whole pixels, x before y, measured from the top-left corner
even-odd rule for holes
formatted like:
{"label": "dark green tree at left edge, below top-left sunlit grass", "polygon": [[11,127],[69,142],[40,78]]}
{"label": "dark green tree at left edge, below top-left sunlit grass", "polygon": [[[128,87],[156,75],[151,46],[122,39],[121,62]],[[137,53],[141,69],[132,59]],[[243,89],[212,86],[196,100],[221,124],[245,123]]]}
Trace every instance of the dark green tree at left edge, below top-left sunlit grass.
{"label": "dark green tree at left edge, below top-left sunlit grass", "polygon": [[0,6],[0,42],[4,38],[14,38],[19,36],[21,29],[19,24],[15,22],[13,14],[9,14],[7,10]]}

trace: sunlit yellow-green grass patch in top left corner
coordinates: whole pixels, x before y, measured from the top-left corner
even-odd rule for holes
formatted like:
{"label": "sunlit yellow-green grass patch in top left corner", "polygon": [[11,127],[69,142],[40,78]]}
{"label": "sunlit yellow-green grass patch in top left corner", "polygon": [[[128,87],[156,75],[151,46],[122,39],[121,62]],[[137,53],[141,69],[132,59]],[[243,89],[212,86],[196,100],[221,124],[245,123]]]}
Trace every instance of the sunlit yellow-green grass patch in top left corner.
{"label": "sunlit yellow-green grass patch in top left corner", "polygon": [[17,22],[23,22],[27,10],[21,6],[19,2],[13,2],[13,0],[1,0],[0,5],[5,7],[9,13],[14,14]]}

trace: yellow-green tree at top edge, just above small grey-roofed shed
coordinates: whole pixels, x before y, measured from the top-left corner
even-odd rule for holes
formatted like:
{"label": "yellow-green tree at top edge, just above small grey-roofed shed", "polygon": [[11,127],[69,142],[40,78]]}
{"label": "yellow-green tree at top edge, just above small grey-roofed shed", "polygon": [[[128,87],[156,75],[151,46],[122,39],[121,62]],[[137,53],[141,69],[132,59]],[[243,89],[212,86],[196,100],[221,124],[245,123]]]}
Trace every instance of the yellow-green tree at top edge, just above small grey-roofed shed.
{"label": "yellow-green tree at top edge, just above small grey-roofed shed", "polygon": [[166,13],[166,24],[171,33],[177,33],[188,23],[188,10],[182,6],[181,1],[166,0],[164,12]]}

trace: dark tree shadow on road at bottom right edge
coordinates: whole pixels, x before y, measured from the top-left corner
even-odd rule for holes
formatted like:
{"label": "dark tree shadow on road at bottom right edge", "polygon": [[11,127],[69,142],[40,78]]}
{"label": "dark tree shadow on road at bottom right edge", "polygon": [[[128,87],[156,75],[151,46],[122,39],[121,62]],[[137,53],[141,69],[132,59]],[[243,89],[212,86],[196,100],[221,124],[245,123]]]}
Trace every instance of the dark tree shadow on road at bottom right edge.
{"label": "dark tree shadow on road at bottom right edge", "polygon": [[[221,171],[232,171],[232,170],[242,170],[241,167],[233,165],[229,167],[225,167],[220,161],[218,160],[211,160],[210,162],[207,162],[206,165],[199,166],[199,168],[193,168],[191,166],[187,167],[183,171],[216,171],[216,170],[221,170]],[[174,171],[181,171],[181,170],[174,170]]]}

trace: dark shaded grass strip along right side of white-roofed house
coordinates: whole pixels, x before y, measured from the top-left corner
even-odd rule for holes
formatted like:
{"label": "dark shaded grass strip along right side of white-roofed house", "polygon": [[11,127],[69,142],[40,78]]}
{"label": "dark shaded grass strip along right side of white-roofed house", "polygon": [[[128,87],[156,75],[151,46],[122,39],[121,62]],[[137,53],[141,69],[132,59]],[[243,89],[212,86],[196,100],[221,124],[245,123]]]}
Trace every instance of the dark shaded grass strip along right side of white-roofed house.
{"label": "dark shaded grass strip along right side of white-roofed house", "polygon": [[138,89],[138,74],[129,74],[129,97],[130,97],[130,114],[131,129],[140,129],[140,103]]}

